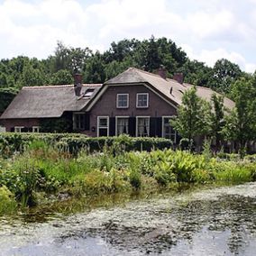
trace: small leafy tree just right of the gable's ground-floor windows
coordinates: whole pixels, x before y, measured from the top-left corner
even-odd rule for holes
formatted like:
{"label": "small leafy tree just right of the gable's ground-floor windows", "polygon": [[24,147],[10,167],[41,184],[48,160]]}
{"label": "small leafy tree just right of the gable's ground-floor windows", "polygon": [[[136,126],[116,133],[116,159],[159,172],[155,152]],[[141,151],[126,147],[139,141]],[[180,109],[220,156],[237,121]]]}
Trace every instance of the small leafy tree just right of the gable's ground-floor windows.
{"label": "small leafy tree just right of the gable's ground-floor windows", "polygon": [[195,138],[209,131],[209,111],[210,105],[197,96],[196,87],[191,87],[182,96],[177,118],[170,121],[181,137],[188,140],[190,151]]}

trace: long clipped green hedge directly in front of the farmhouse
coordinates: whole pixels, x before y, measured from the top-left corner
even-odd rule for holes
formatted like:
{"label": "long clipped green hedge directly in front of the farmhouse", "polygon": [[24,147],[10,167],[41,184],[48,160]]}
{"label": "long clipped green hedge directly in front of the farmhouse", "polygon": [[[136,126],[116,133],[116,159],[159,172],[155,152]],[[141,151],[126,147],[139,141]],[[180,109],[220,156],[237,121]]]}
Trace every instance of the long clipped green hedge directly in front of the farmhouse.
{"label": "long clipped green hedge directly in front of the farmhouse", "polygon": [[172,142],[163,138],[134,138],[127,135],[119,137],[87,137],[81,133],[0,133],[0,151],[14,153],[34,141],[47,142],[63,151],[77,154],[78,151],[103,151],[105,146],[114,151],[151,151],[166,149]]}

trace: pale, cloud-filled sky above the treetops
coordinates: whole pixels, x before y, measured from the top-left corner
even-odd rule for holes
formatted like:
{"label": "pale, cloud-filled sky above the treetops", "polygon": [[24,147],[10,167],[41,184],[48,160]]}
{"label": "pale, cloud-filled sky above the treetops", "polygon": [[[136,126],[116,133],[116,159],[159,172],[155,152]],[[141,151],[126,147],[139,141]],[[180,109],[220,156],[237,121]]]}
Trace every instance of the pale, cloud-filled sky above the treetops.
{"label": "pale, cloud-filled sky above the treetops", "polygon": [[46,59],[57,41],[108,50],[113,41],[166,37],[190,59],[256,69],[256,0],[0,0],[0,59]]}

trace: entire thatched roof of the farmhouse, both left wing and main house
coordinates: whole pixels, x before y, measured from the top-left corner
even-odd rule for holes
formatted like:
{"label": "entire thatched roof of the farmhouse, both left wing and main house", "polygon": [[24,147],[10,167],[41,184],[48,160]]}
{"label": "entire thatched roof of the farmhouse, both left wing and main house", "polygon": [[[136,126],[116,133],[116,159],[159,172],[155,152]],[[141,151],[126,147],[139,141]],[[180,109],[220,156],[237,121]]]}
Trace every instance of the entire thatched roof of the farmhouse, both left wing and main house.
{"label": "entire thatched roof of the farmhouse, both left wing and main house", "polygon": [[[23,87],[0,119],[59,117],[65,111],[88,111],[104,94],[107,87],[118,85],[147,85],[172,105],[180,105],[184,92],[192,87],[187,83],[180,84],[174,79],[164,79],[141,69],[130,68],[106,81],[104,85],[84,84],[81,95],[89,88],[95,89],[94,93],[88,97],[75,96],[73,85]],[[207,101],[210,101],[214,93],[215,91],[210,88],[197,87],[197,95]],[[231,109],[234,103],[224,97],[224,105]]]}

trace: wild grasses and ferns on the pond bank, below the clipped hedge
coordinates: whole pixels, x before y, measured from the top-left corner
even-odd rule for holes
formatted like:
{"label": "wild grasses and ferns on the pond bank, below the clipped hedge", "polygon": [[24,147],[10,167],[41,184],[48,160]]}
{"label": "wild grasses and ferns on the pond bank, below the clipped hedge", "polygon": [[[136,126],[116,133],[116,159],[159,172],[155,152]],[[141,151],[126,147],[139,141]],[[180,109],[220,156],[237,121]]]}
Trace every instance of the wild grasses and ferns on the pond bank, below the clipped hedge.
{"label": "wild grasses and ferns on the pond bank, below the clipped hedge", "polygon": [[63,147],[34,141],[22,154],[0,159],[0,191],[10,192],[10,202],[20,206],[37,204],[39,192],[81,197],[179,183],[237,184],[255,179],[256,164],[249,160],[218,160],[208,153],[172,150],[127,152],[120,145],[105,145],[93,154],[85,149],[73,156]]}

